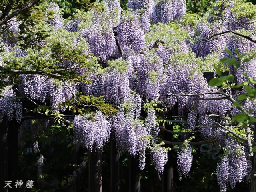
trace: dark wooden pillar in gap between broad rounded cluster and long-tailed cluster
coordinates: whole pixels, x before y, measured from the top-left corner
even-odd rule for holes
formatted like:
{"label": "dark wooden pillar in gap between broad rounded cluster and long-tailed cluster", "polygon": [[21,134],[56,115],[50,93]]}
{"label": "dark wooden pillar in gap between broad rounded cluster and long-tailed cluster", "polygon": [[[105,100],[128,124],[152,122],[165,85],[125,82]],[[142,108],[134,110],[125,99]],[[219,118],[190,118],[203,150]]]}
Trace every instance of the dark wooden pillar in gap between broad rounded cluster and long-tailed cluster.
{"label": "dark wooden pillar in gap between broad rounded cluster and long-tailed cluster", "polygon": [[110,192],[121,191],[120,157],[121,152],[116,149],[114,136],[110,138]]}

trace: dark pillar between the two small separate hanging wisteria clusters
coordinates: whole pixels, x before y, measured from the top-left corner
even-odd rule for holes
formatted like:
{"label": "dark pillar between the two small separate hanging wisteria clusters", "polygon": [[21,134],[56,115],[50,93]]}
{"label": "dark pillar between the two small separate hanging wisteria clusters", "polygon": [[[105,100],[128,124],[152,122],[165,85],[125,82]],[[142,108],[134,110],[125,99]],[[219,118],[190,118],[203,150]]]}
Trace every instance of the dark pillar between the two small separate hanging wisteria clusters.
{"label": "dark pillar between the two small separate hanging wisteria clusters", "polygon": [[[166,125],[166,129],[173,131],[172,125]],[[164,140],[172,141],[173,135],[168,132],[164,132]],[[172,147],[165,144],[165,147]],[[164,166],[164,172],[162,176],[162,192],[173,192],[173,154],[172,151],[168,151],[168,161]]]}

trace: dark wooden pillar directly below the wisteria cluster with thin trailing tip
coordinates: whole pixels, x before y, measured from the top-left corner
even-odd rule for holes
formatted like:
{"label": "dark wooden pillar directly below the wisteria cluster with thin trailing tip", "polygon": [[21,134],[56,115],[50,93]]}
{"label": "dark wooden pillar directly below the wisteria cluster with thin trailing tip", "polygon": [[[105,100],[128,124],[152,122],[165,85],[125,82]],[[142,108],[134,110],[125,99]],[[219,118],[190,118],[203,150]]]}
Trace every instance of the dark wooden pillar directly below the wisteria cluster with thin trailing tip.
{"label": "dark wooden pillar directly below the wisteria cluster with thin trailing tip", "polygon": [[130,157],[129,192],[140,192],[139,157]]}

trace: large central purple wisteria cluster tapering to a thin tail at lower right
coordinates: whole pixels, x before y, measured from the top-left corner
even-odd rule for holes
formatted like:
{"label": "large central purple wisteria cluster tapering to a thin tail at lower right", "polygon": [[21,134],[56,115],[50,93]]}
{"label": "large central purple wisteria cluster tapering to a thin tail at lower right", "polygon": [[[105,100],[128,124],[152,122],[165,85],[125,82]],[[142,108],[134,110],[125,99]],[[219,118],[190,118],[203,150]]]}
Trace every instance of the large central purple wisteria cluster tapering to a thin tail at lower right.
{"label": "large central purple wisteria cluster tapering to a thin tail at lower right", "polygon": [[118,114],[112,119],[117,148],[131,156],[139,155],[140,169],[145,167],[145,150],[148,136],[147,126],[138,118],[141,113],[141,98],[131,93],[129,100],[120,105]]}

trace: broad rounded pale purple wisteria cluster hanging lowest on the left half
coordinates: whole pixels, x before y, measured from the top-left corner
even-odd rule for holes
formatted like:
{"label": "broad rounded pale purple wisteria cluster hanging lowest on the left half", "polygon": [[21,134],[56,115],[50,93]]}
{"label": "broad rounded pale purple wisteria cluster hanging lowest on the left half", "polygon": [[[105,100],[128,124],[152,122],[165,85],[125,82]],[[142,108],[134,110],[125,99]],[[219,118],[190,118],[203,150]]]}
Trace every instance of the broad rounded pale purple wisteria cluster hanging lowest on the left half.
{"label": "broad rounded pale purple wisteria cluster hanging lowest on the left half", "polygon": [[91,152],[93,149],[102,150],[110,138],[111,124],[100,111],[76,115],[73,126],[74,142]]}

